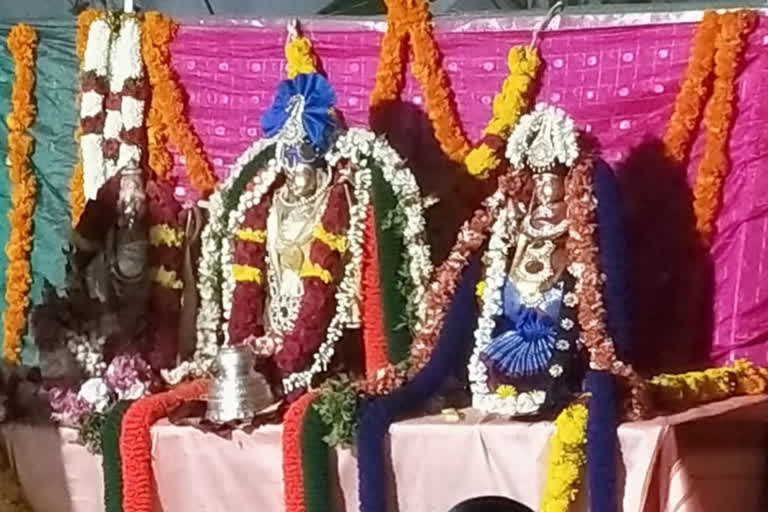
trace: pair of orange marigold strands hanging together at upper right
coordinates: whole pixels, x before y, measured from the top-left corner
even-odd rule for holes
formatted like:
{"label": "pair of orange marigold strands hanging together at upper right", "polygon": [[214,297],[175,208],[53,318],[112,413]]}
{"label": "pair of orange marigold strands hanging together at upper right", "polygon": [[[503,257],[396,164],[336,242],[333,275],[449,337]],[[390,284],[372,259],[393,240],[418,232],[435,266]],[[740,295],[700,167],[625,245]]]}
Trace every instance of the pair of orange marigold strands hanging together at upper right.
{"label": "pair of orange marigold strands hanging together at upper right", "polygon": [[693,186],[693,210],[696,230],[705,241],[714,233],[723,184],[730,172],[727,155],[735,80],[756,19],[757,15],[747,10],[705,13],[664,135],[669,157],[685,164],[702,120],[706,139]]}

